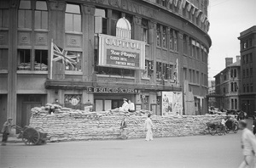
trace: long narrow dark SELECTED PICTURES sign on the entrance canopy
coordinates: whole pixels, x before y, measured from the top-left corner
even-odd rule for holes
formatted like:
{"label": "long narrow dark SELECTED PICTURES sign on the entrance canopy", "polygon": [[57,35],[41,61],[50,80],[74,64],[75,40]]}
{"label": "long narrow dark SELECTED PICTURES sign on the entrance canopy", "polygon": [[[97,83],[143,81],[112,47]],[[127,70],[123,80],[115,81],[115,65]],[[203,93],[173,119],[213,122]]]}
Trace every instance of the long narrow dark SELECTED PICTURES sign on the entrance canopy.
{"label": "long narrow dark SELECTED PICTURES sign on the entrance canopy", "polygon": [[137,93],[137,89],[132,88],[118,88],[118,87],[88,87],[87,92],[96,92],[96,93]]}

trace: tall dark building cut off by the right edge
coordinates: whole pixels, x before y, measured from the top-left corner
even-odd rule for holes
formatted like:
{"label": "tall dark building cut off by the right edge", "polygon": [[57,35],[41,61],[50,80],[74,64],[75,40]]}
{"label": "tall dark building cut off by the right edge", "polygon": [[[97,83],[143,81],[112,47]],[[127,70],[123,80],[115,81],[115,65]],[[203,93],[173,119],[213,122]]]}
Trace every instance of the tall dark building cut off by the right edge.
{"label": "tall dark building cut off by the right edge", "polygon": [[256,111],[256,25],[238,37],[241,52],[241,110],[249,116]]}

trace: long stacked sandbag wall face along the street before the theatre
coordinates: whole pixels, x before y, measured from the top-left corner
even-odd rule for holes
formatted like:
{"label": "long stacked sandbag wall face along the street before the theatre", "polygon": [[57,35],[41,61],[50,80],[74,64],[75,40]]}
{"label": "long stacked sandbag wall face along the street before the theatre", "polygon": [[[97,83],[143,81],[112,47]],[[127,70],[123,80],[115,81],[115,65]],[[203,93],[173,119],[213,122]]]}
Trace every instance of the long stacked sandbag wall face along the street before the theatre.
{"label": "long stacked sandbag wall face along the street before the theatre", "polygon": [[[154,137],[193,136],[206,133],[206,123],[220,121],[223,115],[153,115]],[[51,141],[117,139],[120,136],[121,115],[32,115],[30,126],[41,127]],[[129,138],[145,137],[144,120],[147,116],[127,116]]]}

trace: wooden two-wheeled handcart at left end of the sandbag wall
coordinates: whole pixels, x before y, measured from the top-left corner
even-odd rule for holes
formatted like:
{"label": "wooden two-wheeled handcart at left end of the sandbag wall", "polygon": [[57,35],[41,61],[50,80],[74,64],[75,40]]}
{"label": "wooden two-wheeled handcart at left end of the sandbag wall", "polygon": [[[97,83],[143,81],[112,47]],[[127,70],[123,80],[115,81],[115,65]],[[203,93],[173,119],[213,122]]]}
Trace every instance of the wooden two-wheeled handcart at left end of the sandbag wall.
{"label": "wooden two-wheeled handcart at left end of the sandbag wall", "polygon": [[17,138],[22,138],[22,141],[26,145],[40,145],[46,144],[48,134],[44,132],[44,130],[40,127],[33,128],[31,126],[24,126],[24,128],[20,126],[14,126],[18,132],[20,132]]}

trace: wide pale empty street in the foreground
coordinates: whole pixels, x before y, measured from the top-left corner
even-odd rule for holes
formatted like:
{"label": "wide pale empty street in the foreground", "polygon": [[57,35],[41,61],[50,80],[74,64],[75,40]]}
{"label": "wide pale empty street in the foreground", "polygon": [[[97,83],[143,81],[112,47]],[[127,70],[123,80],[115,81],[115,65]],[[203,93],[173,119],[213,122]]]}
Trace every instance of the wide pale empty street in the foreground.
{"label": "wide pale empty street in the foreground", "polygon": [[174,167],[236,168],[242,160],[241,132],[226,136],[1,146],[1,168]]}

